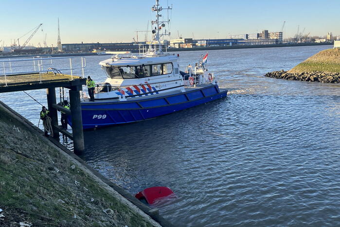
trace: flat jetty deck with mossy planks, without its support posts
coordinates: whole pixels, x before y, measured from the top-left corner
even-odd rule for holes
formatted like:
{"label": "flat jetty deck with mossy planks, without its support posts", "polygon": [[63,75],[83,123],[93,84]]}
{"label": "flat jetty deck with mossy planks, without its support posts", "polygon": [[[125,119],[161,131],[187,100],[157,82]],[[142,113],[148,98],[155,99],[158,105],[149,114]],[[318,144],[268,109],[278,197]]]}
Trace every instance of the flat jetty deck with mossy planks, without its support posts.
{"label": "flat jetty deck with mossy planks, without its support posts", "polygon": [[[7,84],[7,86],[6,86]],[[28,73],[0,76],[0,93],[50,87],[71,87],[85,85],[86,79],[60,73]]]}

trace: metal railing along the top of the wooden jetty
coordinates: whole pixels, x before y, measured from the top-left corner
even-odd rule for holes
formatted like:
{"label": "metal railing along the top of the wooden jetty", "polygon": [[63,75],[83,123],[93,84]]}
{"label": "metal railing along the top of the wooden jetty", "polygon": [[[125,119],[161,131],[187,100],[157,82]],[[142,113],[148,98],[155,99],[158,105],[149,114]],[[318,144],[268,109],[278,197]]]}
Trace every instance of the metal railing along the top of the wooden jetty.
{"label": "metal railing along the top of the wooden jetty", "polygon": [[[63,67],[62,69],[54,69],[49,67],[46,69],[47,66],[53,66],[55,60],[60,59],[69,59],[70,60],[70,67]],[[74,59],[80,59],[79,62],[76,63],[76,67],[74,65]],[[72,62],[73,60],[73,62]],[[31,62],[31,64],[26,64],[26,62]],[[1,66],[2,65],[2,66]],[[79,65],[79,66],[78,66]],[[32,67],[32,70],[16,70],[16,69],[25,69]],[[45,70],[44,70],[45,67]],[[7,77],[11,75],[18,75],[18,74],[40,74],[40,83],[41,81],[41,74],[42,73],[49,73],[52,71],[55,75],[56,73],[62,73],[62,71],[71,71],[71,80],[73,80],[73,70],[81,70],[82,77],[84,78],[84,69],[86,68],[86,58],[81,56],[75,57],[52,57],[52,56],[34,56],[34,57],[19,57],[19,58],[9,58],[9,59],[0,59],[0,77],[4,76],[5,78],[5,86],[7,86]],[[66,73],[65,73],[66,74]]]}

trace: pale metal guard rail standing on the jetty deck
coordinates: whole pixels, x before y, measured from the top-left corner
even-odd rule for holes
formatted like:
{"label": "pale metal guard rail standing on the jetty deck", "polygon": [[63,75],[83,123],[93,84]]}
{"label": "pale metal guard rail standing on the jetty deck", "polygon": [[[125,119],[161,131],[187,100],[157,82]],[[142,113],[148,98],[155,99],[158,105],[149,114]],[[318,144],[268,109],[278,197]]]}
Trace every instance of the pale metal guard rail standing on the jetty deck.
{"label": "pale metal guard rail standing on the jetty deck", "polygon": [[[65,63],[67,60],[67,63]],[[65,66],[67,65],[67,66]],[[56,66],[62,66],[57,69]],[[54,68],[52,68],[54,67]],[[33,56],[18,57],[0,60],[0,80],[4,81],[5,86],[11,76],[32,76],[39,74],[40,83],[45,74],[53,73],[53,75],[64,75],[70,72],[70,80],[73,80],[73,71],[81,70],[84,78],[84,69],[86,68],[85,57],[52,57],[52,56]],[[78,76],[77,76],[78,78]]]}

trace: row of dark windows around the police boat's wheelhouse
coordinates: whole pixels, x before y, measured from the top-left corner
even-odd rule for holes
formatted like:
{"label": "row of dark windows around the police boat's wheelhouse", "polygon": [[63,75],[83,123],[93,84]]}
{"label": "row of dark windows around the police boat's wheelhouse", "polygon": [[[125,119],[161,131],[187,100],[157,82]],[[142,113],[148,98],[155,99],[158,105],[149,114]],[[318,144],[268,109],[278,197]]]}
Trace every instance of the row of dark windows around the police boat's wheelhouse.
{"label": "row of dark windows around the police boat's wheelhouse", "polygon": [[142,65],[142,66],[124,66],[124,67],[104,67],[107,76],[112,79],[135,79],[149,76],[159,76],[165,74],[171,74],[173,64],[161,63],[153,65]]}

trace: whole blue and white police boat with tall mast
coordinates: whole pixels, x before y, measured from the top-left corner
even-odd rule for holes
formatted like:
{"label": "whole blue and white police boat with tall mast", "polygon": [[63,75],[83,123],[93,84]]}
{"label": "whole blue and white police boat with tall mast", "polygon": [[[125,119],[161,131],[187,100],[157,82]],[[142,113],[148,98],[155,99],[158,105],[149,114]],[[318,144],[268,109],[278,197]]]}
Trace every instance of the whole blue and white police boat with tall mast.
{"label": "whole blue and white police boat with tall mast", "polygon": [[165,29],[169,20],[161,18],[162,10],[171,8],[160,7],[156,0],[151,44],[140,45],[139,53],[116,54],[99,63],[107,79],[96,85],[94,102],[82,97],[84,129],[143,121],[227,96],[206,67],[208,53],[194,69],[182,72],[179,55],[162,51],[161,37],[170,35]]}

